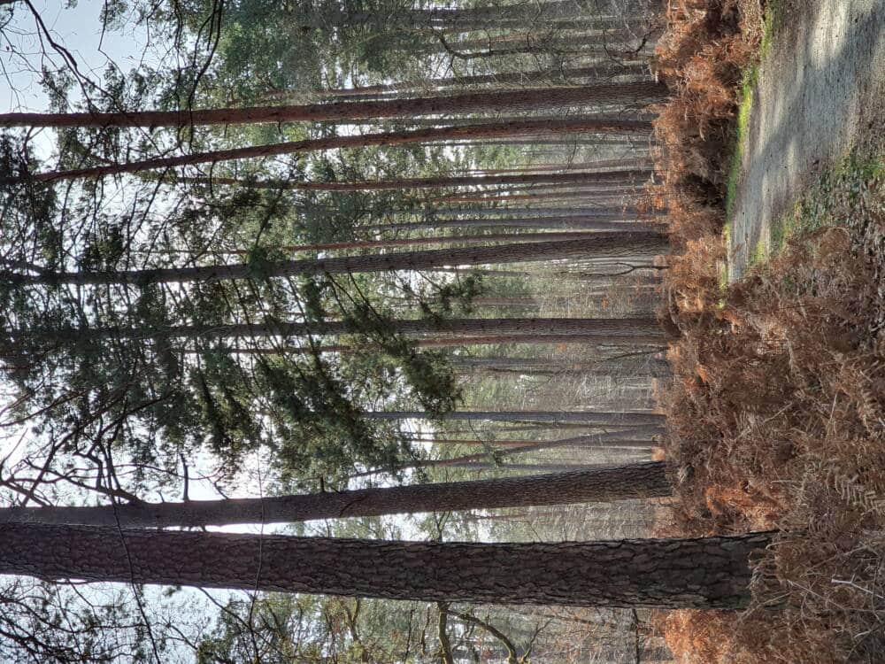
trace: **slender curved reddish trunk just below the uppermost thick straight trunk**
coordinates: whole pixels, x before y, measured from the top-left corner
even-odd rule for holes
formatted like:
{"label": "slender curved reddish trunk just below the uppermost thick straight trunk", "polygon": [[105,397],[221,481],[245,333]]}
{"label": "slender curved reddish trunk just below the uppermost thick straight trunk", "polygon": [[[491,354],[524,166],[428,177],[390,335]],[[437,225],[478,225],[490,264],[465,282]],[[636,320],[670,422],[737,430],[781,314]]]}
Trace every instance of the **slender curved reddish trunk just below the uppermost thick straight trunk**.
{"label": "slender curved reddish trunk just below the uppermost thick straight trunk", "polygon": [[[433,141],[451,141],[457,139],[488,140],[506,136],[519,135],[550,135],[570,132],[624,132],[647,134],[651,123],[646,120],[524,120],[522,122],[486,122],[463,127],[437,127],[417,129],[415,131],[382,132],[380,134],[330,136],[289,143],[271,143],[254,145],[246,148],[231,148],[210,152],[179,155],[177,157],[155,157],[111,166],[87,166],[67,171],[50,171],[30,175],[32,181],[45,182],[56,180],[73,180],[76,178],[102,177],[124,173],[141,173],[155,168],[173,168],[193,164],[214,164],[231,159],[259,157],[279,157],[286,154],[333,150],[335,148],[365,148],[372,145],[407,145],[410,143],[428,143]],[[5,176],[0,182],[16,181]]]}

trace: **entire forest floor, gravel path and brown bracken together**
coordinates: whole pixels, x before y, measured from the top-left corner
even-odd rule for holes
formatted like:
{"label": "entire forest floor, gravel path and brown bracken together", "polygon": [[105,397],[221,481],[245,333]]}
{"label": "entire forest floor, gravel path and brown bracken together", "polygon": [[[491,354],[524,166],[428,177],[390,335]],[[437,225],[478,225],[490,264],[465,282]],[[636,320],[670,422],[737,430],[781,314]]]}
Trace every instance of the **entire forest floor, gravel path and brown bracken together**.
{"label": "entire forest floor, gravel path and brown bracken together", "polygon": [[660,531],[778,531],[746,612],[661,618],[682,664],[885,652],[883,18],[882,0],[668,4]]}

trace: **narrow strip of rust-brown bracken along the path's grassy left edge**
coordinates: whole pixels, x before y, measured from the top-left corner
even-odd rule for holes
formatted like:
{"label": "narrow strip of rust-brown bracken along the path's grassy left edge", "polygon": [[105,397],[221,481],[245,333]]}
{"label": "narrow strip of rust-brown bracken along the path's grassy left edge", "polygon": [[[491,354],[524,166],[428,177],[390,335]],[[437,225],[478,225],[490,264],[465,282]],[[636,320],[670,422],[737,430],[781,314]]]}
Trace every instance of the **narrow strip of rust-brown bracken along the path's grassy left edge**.
{"label": "narrow strip of rust-brown bracken along the path's grassy left edge", "polygon": [[718,233],[737,87],[761,39],[759,0],[672,0],[653,68],[673,97],[654,109],[661,184],[673,243]]}

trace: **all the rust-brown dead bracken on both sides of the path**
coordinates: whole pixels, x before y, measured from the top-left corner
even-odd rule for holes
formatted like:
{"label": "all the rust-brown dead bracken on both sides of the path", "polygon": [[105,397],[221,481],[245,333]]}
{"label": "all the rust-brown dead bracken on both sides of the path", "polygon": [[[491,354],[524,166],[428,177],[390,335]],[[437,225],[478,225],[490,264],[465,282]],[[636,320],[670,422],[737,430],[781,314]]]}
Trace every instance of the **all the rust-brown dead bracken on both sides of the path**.
{"label": "all the rust-brown dead bracken on both sides of the path", "polygon": [[659,623],[682,662],[881,661],[885,326],[868,240],[882,236],[885,201],[879,189],[845,210],[846,226],[795,235],[742,282],[721,283],[735,89],[758,11],[673,0],[658,48],[675,97],[659,109],[654,196],[679,251],[664,315],[681,332],[660,390],[676,492],[661,530],[781,534],[756,561],[746,613]]}

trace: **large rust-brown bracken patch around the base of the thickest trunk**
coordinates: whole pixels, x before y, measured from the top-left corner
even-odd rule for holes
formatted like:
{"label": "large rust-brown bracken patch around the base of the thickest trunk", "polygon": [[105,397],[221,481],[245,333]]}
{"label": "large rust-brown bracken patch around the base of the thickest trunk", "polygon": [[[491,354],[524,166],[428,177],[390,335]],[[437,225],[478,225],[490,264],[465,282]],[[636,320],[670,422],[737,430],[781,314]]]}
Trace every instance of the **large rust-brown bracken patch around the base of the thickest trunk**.
{"label": "large rust-brown bracken patch around the base of the thickest trunk", "polygon": [[782,531],[758,561],[755,606],[736,628],[716,615],[666,619],[675,651],[698,645],[684,661],[873,661],[882,652],[885,337],[869,324],[877,290],[850,230],[826,228],[794,238],[704,312],[679,314],[675,380],[662,396],[679,498],[672,528]]}

